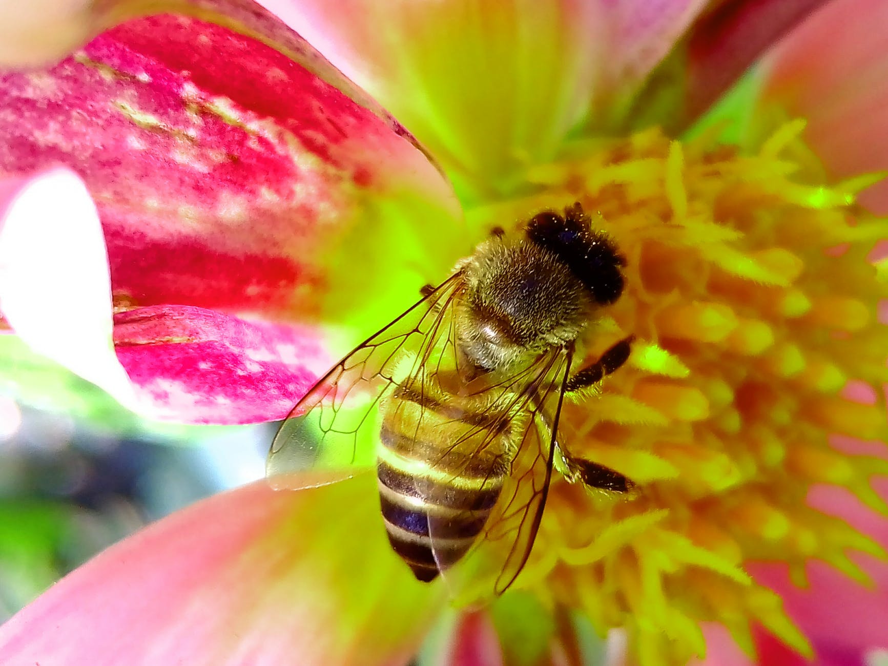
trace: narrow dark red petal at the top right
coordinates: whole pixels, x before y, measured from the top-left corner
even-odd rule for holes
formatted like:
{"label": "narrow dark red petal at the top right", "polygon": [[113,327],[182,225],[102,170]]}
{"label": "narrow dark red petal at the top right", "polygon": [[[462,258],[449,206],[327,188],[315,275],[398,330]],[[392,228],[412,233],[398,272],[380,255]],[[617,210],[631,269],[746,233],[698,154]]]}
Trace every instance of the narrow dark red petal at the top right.
{"label": "narrow dark red petal at the top right", "polygon": [[736,83],[781,36],[827,0],[726,0],[688,35],[684,123]]}

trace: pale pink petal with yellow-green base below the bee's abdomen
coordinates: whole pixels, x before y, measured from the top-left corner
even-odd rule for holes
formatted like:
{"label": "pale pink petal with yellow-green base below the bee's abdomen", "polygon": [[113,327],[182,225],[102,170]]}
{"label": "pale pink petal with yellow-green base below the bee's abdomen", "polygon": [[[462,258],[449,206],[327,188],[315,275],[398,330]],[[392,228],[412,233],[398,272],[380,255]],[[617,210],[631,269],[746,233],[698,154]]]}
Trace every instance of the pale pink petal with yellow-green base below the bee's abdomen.
{"label": "pale pink petal with yellow-green base below the bee's abdomen", "polygon": [[406,663],[437,612],[392,553],[370,475],[264,483],[161,520],[0,628],[10,666]]}

